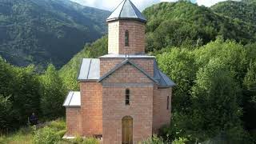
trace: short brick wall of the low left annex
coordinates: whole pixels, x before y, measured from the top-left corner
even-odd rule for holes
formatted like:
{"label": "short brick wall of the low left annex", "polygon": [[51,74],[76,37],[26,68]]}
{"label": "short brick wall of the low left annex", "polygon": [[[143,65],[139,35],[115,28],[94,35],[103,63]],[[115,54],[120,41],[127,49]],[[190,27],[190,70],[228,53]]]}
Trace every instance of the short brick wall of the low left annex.
{"label": "short brick wall of the low left annex", "polygon": [[66,128],[66,134],[69,136],[81,134],[80,107],[66,108]]}

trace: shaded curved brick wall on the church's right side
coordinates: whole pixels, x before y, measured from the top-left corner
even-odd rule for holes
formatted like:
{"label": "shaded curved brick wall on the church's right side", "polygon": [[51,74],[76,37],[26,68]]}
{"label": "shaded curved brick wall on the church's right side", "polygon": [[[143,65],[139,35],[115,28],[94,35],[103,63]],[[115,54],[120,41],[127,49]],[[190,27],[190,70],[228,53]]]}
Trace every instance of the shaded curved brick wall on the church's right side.
{"label": "shaded curved brick wall on the church's right side", "polygon": [[[169,96],[169,110],[167,110],[167,96]],[[158,89],[154,86],[153,99],[153,132],[156,134],[163,125],[170,124],[171,88]]]}

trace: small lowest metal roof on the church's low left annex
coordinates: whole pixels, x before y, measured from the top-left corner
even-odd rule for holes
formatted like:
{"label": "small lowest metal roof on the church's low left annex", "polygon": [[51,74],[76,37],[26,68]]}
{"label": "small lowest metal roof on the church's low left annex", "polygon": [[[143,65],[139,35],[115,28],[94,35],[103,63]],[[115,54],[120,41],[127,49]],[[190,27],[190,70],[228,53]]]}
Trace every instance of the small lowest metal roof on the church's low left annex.
{"label": "small lowest metal roof on the church's low left annex", "polygon": [[66,96],[66,100],[63,103],[65,107],[79,107],[81,106],[80,91],[70,91]]}

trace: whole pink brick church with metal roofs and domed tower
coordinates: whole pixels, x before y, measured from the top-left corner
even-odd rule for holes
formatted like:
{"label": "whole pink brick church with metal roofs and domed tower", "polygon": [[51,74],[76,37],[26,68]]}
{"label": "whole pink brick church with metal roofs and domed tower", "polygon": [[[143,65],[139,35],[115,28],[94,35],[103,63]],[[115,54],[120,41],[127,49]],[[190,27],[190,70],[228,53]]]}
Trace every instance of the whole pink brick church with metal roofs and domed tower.
{"label": "whole pink brick church with metal roofs and domed tower", "polygon": [[106,19],[108,54],[84,58],[80,91],[71,91],[65,138],[102,137],[104,144],[138,143],[170,123],[174,82],[145,54],[146,18],[124,0]]}

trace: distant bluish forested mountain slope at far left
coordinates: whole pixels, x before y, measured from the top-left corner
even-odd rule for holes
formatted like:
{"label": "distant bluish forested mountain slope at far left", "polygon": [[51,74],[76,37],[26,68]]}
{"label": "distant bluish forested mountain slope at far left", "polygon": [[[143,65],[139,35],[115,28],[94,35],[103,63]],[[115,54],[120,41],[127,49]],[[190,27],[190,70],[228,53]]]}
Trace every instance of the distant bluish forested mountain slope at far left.
{"label": "distant bluish forested mountain slope at far left", "polygon": [[106,33],[109,14],[68,0],[2,0],[0,55],[16,66],[60,67]]}

